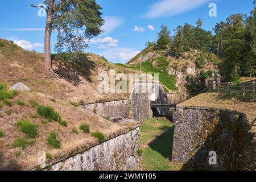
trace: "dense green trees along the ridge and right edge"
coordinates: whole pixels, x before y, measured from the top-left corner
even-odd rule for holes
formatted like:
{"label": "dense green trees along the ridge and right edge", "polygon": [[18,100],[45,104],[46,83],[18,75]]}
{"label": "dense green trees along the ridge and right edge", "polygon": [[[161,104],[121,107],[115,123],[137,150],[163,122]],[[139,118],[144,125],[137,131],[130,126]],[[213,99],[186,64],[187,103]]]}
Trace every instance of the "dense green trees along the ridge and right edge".
{"label": "dense green trees along the ridge and right edge", "polygon": [[174,36],[166,26],[161,27],[156,42],[146,46],[168,49],[170,55],[180,57],[189,49],[200,49],[214,53],[221,59],[219,71],[225,81],[237,81],[239,77],[256,76],[256,3],[250,15],[234,14],[225,22],[217,23],[213,32],[185,23],[177,26]]}

